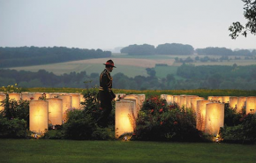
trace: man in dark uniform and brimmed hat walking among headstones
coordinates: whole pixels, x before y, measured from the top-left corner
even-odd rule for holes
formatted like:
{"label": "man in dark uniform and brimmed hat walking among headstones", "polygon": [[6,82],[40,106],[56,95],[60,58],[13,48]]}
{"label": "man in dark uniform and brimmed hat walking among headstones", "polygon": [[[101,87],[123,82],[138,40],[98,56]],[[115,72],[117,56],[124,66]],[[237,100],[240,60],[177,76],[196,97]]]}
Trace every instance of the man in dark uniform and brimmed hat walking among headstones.
{"label": "man in dark uniform and brimmed hat walking among headstones", "polygon": [[99,100],[102,107],[102,115],[98,119],[97,123],[101,127],[107,127],[108,117],[112,110],[112,100],[116,98],[115,93],[112,92],[112,80],[110,72],[116,66],[112,60],[103,63],[105,65],[105,70],[102,71],[100,75],[100,90],[99,90]]}

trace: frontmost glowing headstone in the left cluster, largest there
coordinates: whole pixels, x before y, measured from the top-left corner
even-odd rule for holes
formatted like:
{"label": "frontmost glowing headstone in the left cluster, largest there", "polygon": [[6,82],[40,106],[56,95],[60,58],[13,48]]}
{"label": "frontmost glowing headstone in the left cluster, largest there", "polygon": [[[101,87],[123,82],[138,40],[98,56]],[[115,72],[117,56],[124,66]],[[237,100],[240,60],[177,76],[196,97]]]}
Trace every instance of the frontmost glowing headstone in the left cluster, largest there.
{"label": "frontmost glowing headstone in the left cluster, largest there", "polygon": [[31,100],[29,102],[29,130],[43,134],[48,130],[49,102],[46,100]]}

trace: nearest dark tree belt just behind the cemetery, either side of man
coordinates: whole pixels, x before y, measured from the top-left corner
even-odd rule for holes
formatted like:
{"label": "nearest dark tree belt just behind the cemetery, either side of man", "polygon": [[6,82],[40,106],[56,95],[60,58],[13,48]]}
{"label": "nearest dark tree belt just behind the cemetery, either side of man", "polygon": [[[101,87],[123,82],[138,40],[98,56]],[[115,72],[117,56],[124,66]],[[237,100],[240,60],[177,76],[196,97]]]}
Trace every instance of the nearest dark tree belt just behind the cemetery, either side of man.
{"label": "nearest dark tree belt just behind the cemetery, either side of man", "polygon": [[[176,74],[157,78],[154,68],[147,68],[147,77],[129,78],[123,73],[113,75],[113,87],[132,90],[189,90],[189,89],[239,89],[256,90],[256,65],[232,66],[183,64]],[[3,86],[18,84],[21,87],[74,87],[99,85],[99,73],[71,72],[57,76],[46,70],[0,70]]]}

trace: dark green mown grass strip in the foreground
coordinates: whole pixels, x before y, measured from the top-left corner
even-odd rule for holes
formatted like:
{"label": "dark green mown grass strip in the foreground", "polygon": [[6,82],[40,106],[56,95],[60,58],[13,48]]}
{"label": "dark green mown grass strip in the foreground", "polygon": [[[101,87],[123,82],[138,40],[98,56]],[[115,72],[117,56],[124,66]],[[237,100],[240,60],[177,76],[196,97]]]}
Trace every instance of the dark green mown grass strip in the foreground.
{"label": "dark green mown grass strip in the foreground", "polygon": [[256,145],[0,139],[0,162],[255,162]]}

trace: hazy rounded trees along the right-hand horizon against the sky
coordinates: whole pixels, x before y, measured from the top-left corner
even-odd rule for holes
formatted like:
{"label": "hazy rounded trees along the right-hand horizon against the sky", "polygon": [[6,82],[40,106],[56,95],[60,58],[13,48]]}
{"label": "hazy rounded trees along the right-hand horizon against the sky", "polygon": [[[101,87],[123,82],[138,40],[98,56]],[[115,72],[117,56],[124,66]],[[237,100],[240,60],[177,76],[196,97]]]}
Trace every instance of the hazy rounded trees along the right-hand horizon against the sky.
{"label": "hazy rounded trees along the right-hand horizon against the sky", "polygon": [[148,55],[177,55],[189,56],[193,54],[204,56],[256,56],[256,49],[252,51],[248,49],[231,50],[229,48],[197,48],[192,45],[184,45],[180,43],[165,43],[160,44],[156,48],[153,45],[129,45],[121,49],[121,53],[126,53],[130,56],[148,56]]}

